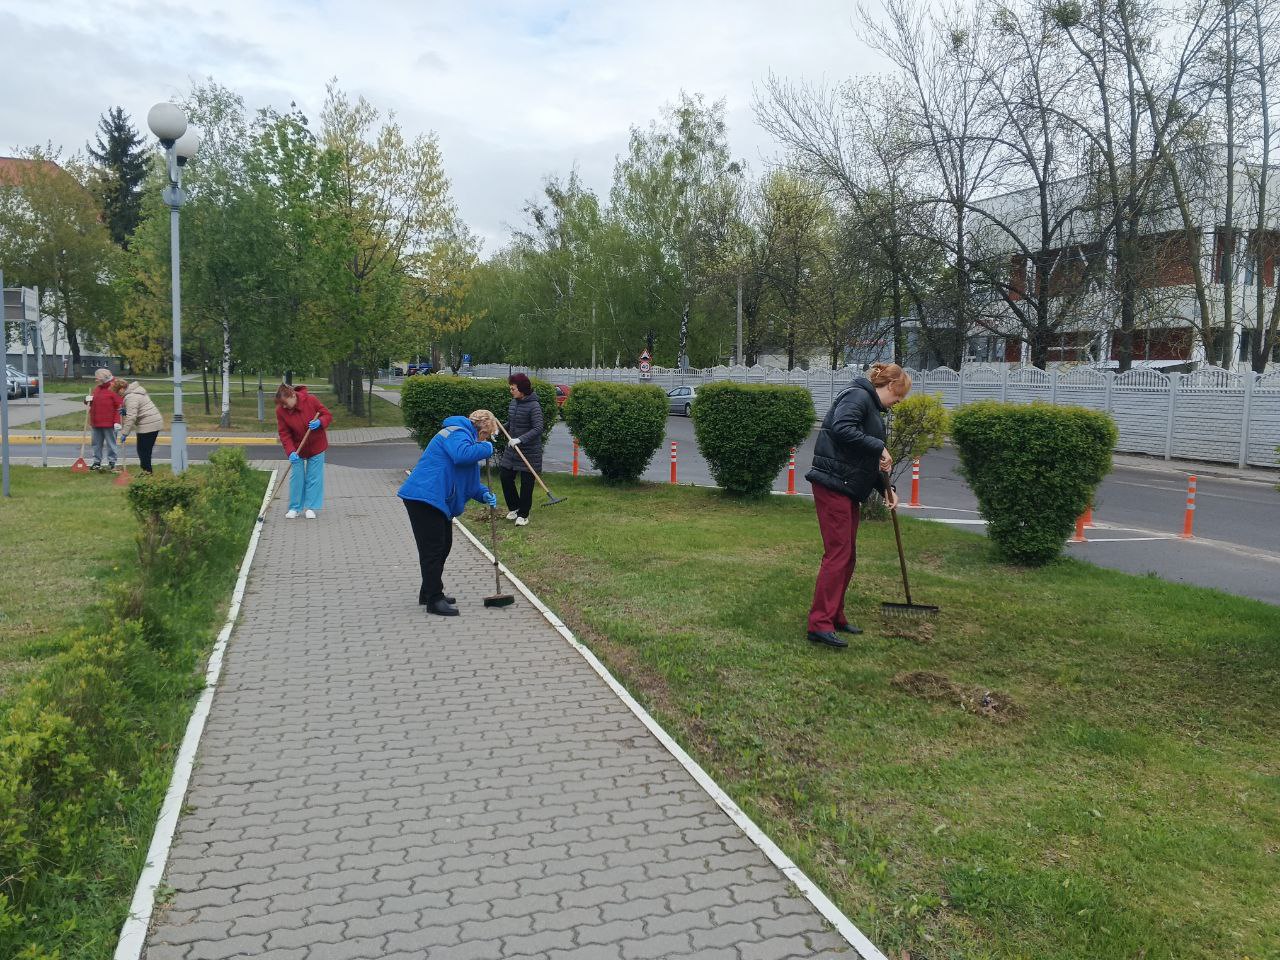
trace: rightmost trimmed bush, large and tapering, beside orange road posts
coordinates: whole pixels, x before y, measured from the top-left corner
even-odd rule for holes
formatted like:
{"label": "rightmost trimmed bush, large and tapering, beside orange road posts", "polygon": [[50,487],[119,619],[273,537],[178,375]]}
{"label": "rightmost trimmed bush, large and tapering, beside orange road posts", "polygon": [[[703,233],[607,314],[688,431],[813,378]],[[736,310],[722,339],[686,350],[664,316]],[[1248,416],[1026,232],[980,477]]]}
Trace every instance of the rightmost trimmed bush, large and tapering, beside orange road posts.
{"label": "rightmost trimmed bush, large and tapering, beside orange road posts", "polygon": [[960,472],[987,534],[1014,563],[1055,559],[1111,470],[1119,434],[1106,413],[984,401],[951,415]]}

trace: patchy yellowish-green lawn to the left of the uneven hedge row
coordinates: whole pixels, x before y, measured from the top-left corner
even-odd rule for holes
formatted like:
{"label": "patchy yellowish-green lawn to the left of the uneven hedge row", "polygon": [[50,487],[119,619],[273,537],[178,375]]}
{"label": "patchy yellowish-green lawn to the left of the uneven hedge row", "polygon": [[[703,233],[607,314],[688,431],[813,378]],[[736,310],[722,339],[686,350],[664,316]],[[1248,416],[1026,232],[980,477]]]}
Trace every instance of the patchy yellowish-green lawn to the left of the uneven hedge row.
{"label": "patchy yellowish-green lawn to the left of the uneven hedge row", "polygon": [[61,649],[120,566],[137,562],[137,524],[110,474],[12,468],[0,500],[0,700],[22,675]]}

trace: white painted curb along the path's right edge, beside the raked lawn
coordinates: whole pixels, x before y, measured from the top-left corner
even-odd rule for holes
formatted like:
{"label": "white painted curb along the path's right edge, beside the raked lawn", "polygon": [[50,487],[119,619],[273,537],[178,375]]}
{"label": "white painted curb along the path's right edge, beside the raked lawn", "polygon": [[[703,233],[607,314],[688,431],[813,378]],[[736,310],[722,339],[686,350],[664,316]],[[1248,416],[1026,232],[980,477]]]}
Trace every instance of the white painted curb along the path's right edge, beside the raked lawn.
{"label": "white painted curb along the path's right edge, beside the raked lawn", "polygon": [[[476,539],[476,536],[467,530],[462,522],[457,520],[453,522],[472,543],[472,545],[480,550],[480,553],[483,553],[490,562],[494,559],[494,556],[489,553],[485,545],[480,543],[480,540]],[[547,622],[556,627],[557,632],[559,632],[559,635],[582,655],[584,660],[591,664],[591,669],[594,669],[600,678],[608,684],[609,689],[617,694],[618,699],[622,700],[631,713],[634,713],[636,718],[644,723],[645,727],[648,727],[649,732],[658,739],[658,742],[660,742],[667,751],[680,762],[681,767],[689,771],[690,776],[698,781],[698,785],[707,791],[708,796],[710,796],[710,799],[728,814],[730,819],[732,819],[733,823],[741,828],[748,838],[755,844],[764,852],[764,855],[769,858],[769,860],[773,861],[773,865],[782,870],[786,878],[791,881],[801,893],[804,893],[805,899],[808,899],[809,902],[817,908],[818,913],[820,913],[827,922],[836,928],[840,936],[849,941],[849,945],[858,951],[858,955],[863,957],[863,960],[888,960],[888,957],[877,950],[876,945],[867,938],[867,934],[858,929],[858,927],[854,925],[854,922],[845,916],[840,908],[827,899],[827,895],[818,888],[818,884],[809,879],[805,872],[796,867],[791,858],[782,852],[778,845],[774,844],[769,836],[760,829],[737,804],[732,801],[732,799],[730,799],[728,794],[726,794],[721,786],[712,780],[710,774],[701,768],[698,760],[685,753],[684,748],[672,740],[671,735],[662,728],[658,721],[650,717],[649,712],[636,703],[635,698],[627,692],[626,687],[623,687],[622,684],[620,684],[613,675],[609,673],[608,667],[600,663],[594,653],[579,643],[577,637],[573,636],[573,631],[564,626],[564,622],[557,617],[550,608],[547,607],[547,604],[539,600],[536,594],[525,586],[520,577],[507,568],[506,563],[499,562],[498,566],[507,580],[511,581],[512,586],[520,590],[525,599],[527,599],[534,608],[543,614]],[[122,960],[122,957],[118,955],[116,960]]]}

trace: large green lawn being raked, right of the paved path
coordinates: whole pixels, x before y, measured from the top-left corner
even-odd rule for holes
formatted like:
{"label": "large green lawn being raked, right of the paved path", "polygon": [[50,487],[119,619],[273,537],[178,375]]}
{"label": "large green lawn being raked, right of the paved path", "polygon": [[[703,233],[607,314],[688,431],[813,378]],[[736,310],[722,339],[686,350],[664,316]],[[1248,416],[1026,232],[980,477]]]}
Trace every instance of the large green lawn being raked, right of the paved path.
{"label": "large green lawn being raked, right of the paved path", "polygon": [[882,950],[1280,956],[1280,608],[908,520],[886,621],[867,524],[833,652],[808,499],[552,489],[504,559]]}

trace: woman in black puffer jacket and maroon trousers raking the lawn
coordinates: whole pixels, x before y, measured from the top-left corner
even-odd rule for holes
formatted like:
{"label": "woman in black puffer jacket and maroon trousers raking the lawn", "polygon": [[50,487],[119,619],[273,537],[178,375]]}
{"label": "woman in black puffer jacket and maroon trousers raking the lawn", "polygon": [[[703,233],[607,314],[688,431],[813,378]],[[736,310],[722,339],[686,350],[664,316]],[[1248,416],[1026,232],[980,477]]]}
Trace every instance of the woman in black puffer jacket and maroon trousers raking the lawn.
{"label": "woman in black puffer jacket and maroon trousers raking the lawn", "polygon": [[858,562],[860,504],[879,490],[890,508],[897,493],[884,474],[893,458],[884,448],[882,415],[911,389],[911,376],[897,364],[876,364],[831,404],[822,419],[813,467],[813,485],[822,530],[822,567],[809,609],[809,639],[827,646],[849,646],[841,634],[863,632],[845,616],[845,593]]}

